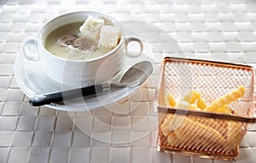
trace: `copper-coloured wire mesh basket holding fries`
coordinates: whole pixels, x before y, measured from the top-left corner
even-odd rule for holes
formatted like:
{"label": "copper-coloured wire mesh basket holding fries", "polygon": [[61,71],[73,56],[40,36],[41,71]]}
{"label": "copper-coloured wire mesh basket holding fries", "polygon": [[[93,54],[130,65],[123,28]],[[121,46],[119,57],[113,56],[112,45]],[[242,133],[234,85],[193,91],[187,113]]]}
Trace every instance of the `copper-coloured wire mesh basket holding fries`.
{"label": "copper-coloured wire mesh basket holding fries", "polygon": [[[157,89],[158,150],[172,154],[235,160],[239,143],[256,121],[254,69],[198,59],[165,58]],[[228,107],[233,115],[201,110],[181,110],[166,105],[166,93],[180,98],[188,90],[201,93],[206,104],[244,86],[245,95]]]}

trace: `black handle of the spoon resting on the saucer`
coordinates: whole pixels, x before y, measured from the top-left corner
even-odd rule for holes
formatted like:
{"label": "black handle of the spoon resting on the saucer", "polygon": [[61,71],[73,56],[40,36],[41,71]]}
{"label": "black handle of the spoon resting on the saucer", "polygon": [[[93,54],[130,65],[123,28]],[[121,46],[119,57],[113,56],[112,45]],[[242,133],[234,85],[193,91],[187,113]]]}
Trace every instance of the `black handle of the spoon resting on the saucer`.
{"label": "black handle of the spoon resting on the saucer", "polygon": [[32,106],[41,106],[44,104],[58,103],[64,100],[90,96],[96,93],[103,93],[110,90],[108,83],[93,85],[89,87],[79,87],[67,91],[47,93],[32,97],[29,103]]}

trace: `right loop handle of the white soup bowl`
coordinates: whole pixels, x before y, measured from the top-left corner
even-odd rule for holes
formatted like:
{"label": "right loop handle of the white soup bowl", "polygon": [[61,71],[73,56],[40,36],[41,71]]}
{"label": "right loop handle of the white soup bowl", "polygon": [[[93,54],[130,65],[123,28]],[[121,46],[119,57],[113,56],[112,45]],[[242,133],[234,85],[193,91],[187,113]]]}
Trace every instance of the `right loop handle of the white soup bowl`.
{"label": "right loop handle of the white soup bowl", "polygon": [[[138,42],[139,46],[140,46],[140,51],[139,52],[128,51],[128,44],[130,42]],[[125,38],[125,53],[128,57],[131,57],[131,58],[139,57],[141,54],[143,54],[143,41],[136,37],[126,37]]]}

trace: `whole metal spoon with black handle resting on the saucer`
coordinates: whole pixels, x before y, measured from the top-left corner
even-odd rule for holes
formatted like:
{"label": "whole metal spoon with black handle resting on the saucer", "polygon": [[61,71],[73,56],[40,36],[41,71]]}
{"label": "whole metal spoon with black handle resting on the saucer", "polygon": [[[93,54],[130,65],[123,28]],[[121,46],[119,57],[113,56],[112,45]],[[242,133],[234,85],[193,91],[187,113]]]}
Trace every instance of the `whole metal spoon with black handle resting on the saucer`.
{"label": "whole metal spoon with black handle resting on the saucer", "polygon": [[104,93],[112,88],[137,87],[146,81],[148,76],[152,73],[152,70],[152,64],[148,61],[143,61],[131,66],[131,68],[125,72],[120,82],[104,83],[90,87],[79,87],[62,92],[42,94],[30,98],[29,103],[33,106],[40,106],[44,104],[58,103],[68,99],[90,96],[96,93]]}

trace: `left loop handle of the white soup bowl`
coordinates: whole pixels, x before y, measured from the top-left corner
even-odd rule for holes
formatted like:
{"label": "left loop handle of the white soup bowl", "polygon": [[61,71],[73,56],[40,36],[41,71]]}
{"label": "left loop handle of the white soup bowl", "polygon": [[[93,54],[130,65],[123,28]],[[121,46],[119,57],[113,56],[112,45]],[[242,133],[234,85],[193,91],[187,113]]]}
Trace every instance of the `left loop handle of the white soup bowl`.
{"label": "left loop handle of the white soup bowl", "polygon": [[26,38],[26,40],[22,42],[21,48],[26,59],[32,61],[38,61],[40,59],[37,45],[38,41],[33,37]]}

